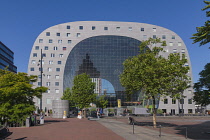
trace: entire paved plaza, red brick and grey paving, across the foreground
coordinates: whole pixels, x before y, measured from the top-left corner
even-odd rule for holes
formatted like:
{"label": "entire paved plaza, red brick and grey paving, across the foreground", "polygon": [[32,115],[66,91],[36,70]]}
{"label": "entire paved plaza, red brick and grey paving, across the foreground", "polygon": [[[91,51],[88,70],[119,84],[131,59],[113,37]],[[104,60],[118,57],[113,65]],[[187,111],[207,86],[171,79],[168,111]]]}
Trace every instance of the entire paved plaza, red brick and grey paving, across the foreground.
{"label": "entire paved plaza, red brick and grey paving, across the foreground", "polygon": [[[197,140],[210,139],[210,117],[158,117],[160,129],[152,127],[152,117],[135,117],[134,129],[127,117],[95,120],[45,118],[44,125],[9,128],[5,140]],[[134,130],[134,131],[133,131]]]}

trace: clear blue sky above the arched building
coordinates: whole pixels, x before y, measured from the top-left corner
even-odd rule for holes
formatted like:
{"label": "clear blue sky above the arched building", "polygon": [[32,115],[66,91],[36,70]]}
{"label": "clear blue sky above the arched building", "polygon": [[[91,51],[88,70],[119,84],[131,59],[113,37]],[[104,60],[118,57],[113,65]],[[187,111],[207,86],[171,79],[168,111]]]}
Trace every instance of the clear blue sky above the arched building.
{"label": "clear blue sky above the arched building", "polygon": [[203,0],[1,0],[0,41],[15,53],[19,72],[27,72],[31,48],[46,28],[73,21],[142,22],[168,28],[185,42],[193,80],[210,61],[209,44],[190,37],[207,20]]}

